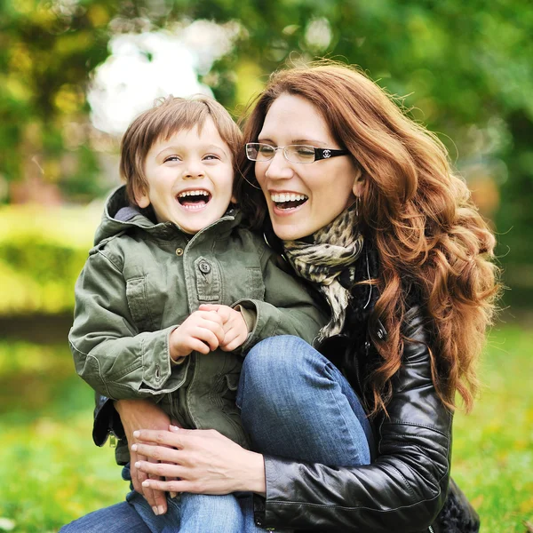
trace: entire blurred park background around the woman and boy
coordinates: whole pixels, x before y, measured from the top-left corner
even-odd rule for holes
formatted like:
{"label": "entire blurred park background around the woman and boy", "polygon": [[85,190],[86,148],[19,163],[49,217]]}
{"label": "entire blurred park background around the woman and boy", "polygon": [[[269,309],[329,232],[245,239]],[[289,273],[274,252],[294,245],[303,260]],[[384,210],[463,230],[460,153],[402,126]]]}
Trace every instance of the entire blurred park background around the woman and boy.
{"label": "entire blurred park background around the woman and boy", "polygon": [[435,131],[497,231],[505,297],[452,474],[490,533],[533,531],[533,3],[0,3],[0,531],[57,531],[123,498],[68,351],[73,285],[117,149],[157,96],[235,117],[287,64],[359,65]]}

